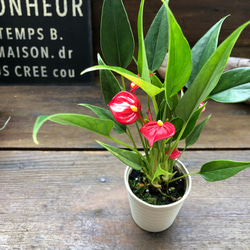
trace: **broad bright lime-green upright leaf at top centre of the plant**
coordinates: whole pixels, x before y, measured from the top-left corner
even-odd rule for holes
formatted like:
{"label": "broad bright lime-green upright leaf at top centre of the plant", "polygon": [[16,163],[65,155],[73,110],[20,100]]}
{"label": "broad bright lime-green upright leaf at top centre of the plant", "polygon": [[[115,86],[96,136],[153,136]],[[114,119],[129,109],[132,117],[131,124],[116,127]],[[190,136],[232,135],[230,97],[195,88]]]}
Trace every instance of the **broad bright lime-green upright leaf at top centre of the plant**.
{"label": "broad bright lime-green upright leaf at top centre of the plant", "polygon": [[188,81],[192,70],[191,50],[174,15],[167,5],[169,48],[165,77],[165,93],[168,105],[172,109],[170,97],[180,91]]}

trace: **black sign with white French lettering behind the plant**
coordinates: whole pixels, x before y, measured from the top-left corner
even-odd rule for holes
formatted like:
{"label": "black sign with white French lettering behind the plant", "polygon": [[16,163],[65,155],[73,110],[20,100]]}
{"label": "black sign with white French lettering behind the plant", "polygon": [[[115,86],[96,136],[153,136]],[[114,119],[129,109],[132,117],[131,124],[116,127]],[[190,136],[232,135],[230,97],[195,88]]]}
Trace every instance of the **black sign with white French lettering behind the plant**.
{"label": "black sign with white French lettering behind the plant", "polygon": [[0,0],[0,84],[90,84],[90,0]]}

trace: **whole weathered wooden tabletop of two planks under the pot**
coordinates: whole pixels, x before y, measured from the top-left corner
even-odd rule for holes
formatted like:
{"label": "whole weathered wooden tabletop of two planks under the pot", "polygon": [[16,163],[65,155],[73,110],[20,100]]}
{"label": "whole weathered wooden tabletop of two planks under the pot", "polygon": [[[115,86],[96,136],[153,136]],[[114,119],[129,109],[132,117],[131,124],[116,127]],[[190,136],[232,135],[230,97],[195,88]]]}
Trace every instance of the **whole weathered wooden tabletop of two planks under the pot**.
{"label": "whole weathered wooden tabletop of two planks under the pot", "polygon": [[[0,132],[0,250],[250,249],[249,169],[216,183],[192,176],[174,224],[148,233],[131,218],[125,166],[94,140],[109,141],[50,122],[40,144],[32,141],[39,114],[91,114],[77,104],[103,106],[99,86],[1,86],[0,97],[0,127],[11,116]],[[250,106],[209,101],[209,113],[181,158],[189,171],[213,159],[250,161]]]}

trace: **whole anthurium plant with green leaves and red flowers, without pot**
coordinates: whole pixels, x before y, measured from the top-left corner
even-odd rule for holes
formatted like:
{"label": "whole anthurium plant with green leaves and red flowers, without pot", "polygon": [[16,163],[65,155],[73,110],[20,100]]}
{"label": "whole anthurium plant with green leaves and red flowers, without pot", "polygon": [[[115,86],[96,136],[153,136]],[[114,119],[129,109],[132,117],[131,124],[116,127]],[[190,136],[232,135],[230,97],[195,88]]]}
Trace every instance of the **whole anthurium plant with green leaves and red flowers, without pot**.
{"label": "whole anthurium plant with green leaves and red flowers, without pot", "polygon": [[[199,119],[206,109],[206,101],[227,103],[250,98],[250,68],[223,72],[236,40],[250,22],[237,28],[218,46],[224,17],[191,50],[168,1],[163,1],[144,38],[143,8],[144,0],[138,13],[138,56],[135,57],[134,36],[122,0],[104,0],[100,31],[102,57],[98,54],[98,65],[85,69],[82,74],[100,71],[107,107],[80,104],[92,110],[95,116],[72,113],[39,116],[33,139],[38,143],[37,133],[47,120],[90,130],[119,144],[120,147],[114,147],[97,141],[123,163],[140,170],[148,186],[169,197],[168,189],[163,187],[185,177],[176,177],[176,160],[198,140],[210,118],[208,115],[201,122]],[[161,80],[155,72],[166,53],[166,76]],[[137,65],[136,73],[126,69],[132,61]],[[131,82],[129,87],[124,78]],[[147,95],[144,113],[136,96],[137,88]],[[135,124],[133,128],[141,140],[139,147],[132,136],[131,124]],[[127,135],[131,144],[112,136],[112,130],[118,135]],[[182,140],[185,146],[181,150],[178,144]],[[249,167],[250,162],[214,160],[203,164],[199,172],[190,174],[200,174],[214,182]]]}

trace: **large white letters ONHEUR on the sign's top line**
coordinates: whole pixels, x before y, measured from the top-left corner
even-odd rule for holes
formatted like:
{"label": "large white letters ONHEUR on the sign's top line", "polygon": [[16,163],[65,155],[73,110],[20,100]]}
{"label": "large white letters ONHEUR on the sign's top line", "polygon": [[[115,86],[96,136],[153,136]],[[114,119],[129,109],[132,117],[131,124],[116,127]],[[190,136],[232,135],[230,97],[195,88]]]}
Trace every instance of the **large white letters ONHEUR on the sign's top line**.
{"label": "large white letters ONHEUR on the sign's top line", "polygon": [[[70,10],[68,6],[71,6]],[[8,6],[9,8],[6,8]],[[9,9],[10,13],[6,13]],[[0,16],[83,16],[83,0],[0,0]]]}

